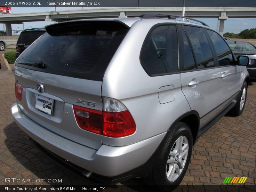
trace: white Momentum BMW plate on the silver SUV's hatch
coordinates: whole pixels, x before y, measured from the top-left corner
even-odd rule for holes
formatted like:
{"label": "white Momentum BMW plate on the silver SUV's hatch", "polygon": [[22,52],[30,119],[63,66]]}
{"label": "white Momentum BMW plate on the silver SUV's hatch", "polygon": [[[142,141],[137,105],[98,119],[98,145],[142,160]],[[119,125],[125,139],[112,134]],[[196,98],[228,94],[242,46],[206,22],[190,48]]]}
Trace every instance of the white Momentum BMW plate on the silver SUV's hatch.
{"label": "white Momentum BMW plate on the silver SUV's hatch", "polygon": [[36,93],[35,109],[52,116],[54,99]]}

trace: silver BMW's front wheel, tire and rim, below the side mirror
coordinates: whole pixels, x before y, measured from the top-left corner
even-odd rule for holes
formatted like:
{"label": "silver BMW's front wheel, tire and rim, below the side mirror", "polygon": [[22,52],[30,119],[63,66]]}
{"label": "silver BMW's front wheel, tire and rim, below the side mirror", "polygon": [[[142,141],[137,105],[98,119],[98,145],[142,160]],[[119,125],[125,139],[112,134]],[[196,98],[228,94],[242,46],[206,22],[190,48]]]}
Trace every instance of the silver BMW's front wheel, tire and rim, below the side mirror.
{"label": "silver BMW's front wheel, tire and rim, below the side mirror", "polygon": [[239,97],[236,101],[236,105],[234,108],[232,108],[230,110],[230,114],[232,116],[239,116],[243,113],[245,101],[246,101],[246,97],[247,97],[247,88],[248,88],[247,83],[244,82],[241,92],[239,93]]}

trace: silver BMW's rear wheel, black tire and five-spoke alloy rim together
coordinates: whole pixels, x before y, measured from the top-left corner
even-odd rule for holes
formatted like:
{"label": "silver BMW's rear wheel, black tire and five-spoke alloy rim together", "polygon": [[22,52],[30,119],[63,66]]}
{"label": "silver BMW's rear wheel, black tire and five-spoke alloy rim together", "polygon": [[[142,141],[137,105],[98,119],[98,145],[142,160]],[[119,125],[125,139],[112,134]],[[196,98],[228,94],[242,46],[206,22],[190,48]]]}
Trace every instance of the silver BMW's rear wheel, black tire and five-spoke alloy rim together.
{"label": "silver BMW's rear wheel, black tire and five-spoke alloy rim together", "polygon": [[[180,141],[182,144],[179,145]],[[169,186],[167,187],[169,190],[170,186],[175,188],[180,184],[188,169],[193,146],[193,137],[189,126],[182,122],[174,124],[161,145],[149,180],[155,185],[161,185],[162,188]],[[181,158],[182,153],[184,155]]]}

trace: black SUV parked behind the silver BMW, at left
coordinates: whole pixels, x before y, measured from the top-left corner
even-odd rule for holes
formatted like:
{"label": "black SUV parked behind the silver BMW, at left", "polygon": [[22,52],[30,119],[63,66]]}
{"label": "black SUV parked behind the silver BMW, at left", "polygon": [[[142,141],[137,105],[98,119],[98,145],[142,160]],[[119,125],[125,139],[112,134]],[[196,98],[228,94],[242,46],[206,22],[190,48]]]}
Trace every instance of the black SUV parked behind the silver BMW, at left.
{"label": "black SUV parked behind the silver BMW, at left", "polygon": [[27,49],[38,37],[45,33],[45,28],[25,29],[20,33],[16,44],[16,58]]}

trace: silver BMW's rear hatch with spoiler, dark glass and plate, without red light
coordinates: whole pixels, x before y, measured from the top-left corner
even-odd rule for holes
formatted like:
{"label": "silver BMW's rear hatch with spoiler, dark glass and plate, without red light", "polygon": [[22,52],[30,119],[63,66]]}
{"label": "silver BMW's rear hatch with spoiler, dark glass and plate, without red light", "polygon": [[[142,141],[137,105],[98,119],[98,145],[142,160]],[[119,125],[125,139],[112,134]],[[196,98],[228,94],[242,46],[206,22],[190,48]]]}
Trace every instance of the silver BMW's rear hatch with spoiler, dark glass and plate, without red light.
{"label": "silver BMW's rear hatch with spoiler, dark glass and plate, without red light", "polygon": [[98,149],[101,134],[81,129],[73,106],[102,111],[104,72],[129,27],[114,20],[85,20],[50,25],[46,30],[15,62],[16,83],[23,87],[17,103],[36,123]]}

